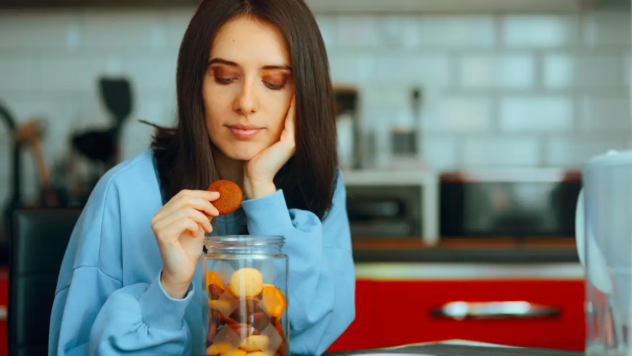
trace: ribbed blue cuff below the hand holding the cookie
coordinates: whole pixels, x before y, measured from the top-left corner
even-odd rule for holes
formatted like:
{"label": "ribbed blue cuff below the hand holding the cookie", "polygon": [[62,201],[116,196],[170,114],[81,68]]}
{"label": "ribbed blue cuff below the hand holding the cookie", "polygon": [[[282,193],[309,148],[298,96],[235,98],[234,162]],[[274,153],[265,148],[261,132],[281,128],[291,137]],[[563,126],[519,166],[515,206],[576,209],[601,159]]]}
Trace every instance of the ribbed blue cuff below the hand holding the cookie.
{"label": "ribbed blue cuff below the hand holding the cookie", "polygon": [[185,298],[171,298],[162,288],[160,283],[161,274],[162,270],[138,300],[140,311],[143,315],[142,320],[145,325],[155,329],[179,330],[185,319],[186,307],[188,307],[191,299],[193,299],[193,294],[195,294],[195,286],[191,283],[188,291],[186,291]]}

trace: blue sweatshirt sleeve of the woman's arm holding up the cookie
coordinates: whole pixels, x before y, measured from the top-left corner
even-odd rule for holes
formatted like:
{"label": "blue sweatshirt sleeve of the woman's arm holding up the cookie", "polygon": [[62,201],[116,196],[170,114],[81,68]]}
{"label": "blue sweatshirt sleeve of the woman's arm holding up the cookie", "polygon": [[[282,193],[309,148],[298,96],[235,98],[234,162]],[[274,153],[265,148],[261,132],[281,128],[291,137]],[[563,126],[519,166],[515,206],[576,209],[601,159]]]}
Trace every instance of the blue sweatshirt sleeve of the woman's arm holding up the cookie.
{"label": "blue sweatshirt sleeve of the woman's arm holding up the cookie", "polygon": [[[114,184],[95,187],[71,235],[51,312],[49,355],[186,355],[185,298],[153,280],[124,286],[121,219]],[[107,267],[99,260],[107,259]],[[114,266],[114,267],[112,267]]]}

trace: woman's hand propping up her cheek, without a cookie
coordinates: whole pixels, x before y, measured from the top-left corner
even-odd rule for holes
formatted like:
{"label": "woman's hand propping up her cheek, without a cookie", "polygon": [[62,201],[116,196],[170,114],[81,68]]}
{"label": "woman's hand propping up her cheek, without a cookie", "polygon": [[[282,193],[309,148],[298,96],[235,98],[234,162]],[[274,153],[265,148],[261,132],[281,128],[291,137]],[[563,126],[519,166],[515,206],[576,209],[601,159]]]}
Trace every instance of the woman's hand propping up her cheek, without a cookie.
{"label": "woman's hand propping up her cheek, without a cookie", "polygon": [[260,198],[276,191],[274,175],[296,151],[295,122],[296,95],[292,96],[279,141],[264,149],[244,166],[243,188],[248,199]]}

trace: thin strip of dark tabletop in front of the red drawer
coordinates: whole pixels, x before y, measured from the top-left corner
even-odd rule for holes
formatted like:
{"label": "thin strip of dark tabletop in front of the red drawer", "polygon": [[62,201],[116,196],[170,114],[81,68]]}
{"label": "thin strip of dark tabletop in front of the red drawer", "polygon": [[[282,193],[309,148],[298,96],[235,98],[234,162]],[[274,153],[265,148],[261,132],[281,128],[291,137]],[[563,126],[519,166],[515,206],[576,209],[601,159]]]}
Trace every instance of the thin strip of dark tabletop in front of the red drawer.
{"label": "thin strip of dark tabletop in front of the red drawer", "polygon": [[372,353],[406,353],[434,356],[583,356],[583,352],[566,350],[549,350],[545,348],[530,347],[505,347],[505,346],[470,346],[450,345],[442,343],[430,343],[423,345],[410,345],[400,348],[380,348],[344,352],[327,352],[324,356],[355,356],[370,355]]}

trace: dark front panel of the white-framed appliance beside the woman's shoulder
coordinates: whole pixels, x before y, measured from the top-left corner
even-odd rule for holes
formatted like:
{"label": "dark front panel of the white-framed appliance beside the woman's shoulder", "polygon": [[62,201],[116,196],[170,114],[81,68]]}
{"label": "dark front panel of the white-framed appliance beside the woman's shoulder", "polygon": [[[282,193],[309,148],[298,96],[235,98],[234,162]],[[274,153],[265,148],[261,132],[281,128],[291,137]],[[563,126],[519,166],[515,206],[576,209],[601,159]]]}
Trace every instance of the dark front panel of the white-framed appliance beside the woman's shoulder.
{"label": "dark front panel of the white-framed appliance beside the woman's shoulder", "polygon": [[408,186],[348,186],[347,214],[352,238],[420,236],[420,189]]}

